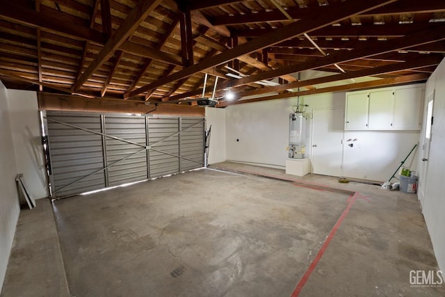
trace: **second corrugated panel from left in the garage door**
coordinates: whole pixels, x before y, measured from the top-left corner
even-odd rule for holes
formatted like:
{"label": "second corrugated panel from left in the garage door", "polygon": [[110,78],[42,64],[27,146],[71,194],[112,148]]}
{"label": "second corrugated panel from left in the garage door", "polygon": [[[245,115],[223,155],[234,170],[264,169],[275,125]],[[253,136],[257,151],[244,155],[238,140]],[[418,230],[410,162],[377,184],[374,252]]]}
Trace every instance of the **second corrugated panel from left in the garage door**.
{"label": "second corrugated panel from left in the garage door", "polygon": [[147,152],[144,150],[146,143],[145,117],[105,116],[104,122],[107,135],[140,144],[134,145],[106,137],[106,162],[108,166],[128,157],[128,159],[120,161],[115,166],[107,169],[108,186],[118,186],[147,179]]}

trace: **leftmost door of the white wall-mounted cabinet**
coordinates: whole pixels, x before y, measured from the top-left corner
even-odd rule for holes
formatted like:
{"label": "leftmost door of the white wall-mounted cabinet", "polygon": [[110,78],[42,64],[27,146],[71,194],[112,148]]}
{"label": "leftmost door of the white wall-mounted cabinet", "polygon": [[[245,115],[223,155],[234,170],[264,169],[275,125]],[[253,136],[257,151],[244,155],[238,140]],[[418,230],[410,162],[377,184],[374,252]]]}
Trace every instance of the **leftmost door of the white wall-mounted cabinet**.
{"label": "leftmost door of the white wall-mounted cabinet", "polygon": [[368,92],[346,94],[345,130],[368,129]]}

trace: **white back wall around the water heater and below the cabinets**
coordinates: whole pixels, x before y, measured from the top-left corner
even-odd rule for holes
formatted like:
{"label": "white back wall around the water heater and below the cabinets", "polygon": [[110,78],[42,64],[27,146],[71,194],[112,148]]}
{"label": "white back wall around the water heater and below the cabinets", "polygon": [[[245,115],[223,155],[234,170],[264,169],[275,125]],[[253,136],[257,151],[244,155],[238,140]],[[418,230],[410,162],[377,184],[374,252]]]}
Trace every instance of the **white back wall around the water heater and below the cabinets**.
{"label": "white back wall around the water heater and below the cabinets", "polygon": [[[346,93],[304,96],[300,98],[300,103],[309,105],[306,109],[309,114],[314,109],[344,109]],[[228,106],[225,109],[227,161],[284,168],[289,142],[289,113],[292,113],[292,106],[296,104],[297,98],[293,97]],[[364,170],[347,170],[353,172],[348,177],[380,182],[391,177],[413,145],[419,141],[419,131],[353,131],[345,134],[345,137],[352,136],[359,138],[362,143],[355,154],[348,155],[348,159],[345,157],[348,163],[344,166],[353,164]],[[311,149],[312,118],[309,117],[306,150],[309,158],[312,156]],[[413,158],[414,154],[406,164],[410,164]],[[416,166],[417,162],[412,162],[412,170],[416,170]]]}

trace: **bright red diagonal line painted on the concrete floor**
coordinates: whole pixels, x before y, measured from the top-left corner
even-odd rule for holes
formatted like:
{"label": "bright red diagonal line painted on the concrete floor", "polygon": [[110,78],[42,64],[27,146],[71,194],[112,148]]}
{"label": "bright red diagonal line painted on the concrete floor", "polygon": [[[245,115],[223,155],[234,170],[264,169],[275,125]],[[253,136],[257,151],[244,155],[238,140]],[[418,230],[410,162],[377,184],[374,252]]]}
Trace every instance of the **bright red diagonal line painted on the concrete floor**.
{"label": "bright red diagonal line painted on the concrete floor", "polygon": [[335,223],[334,227],[332,227],[332,230],[327,235],[327,238],[326,238],[325,242],[323,243],[323,246],[321,246],[320,250],[318,250],[317,255],[314,257],[314,259],[312,260],[312,263],[307,268],[307,271],[305,272],[305,274],[302,276],[302,278],[298,282],[296,288],[293,290],[291,297],[297,297],[298,295],[300,295],[300,292],[303,289],[303,287],[305,287],[307,280],[311,276],[312,272],[314,272],[318,262],[320,262],[321,257],[323,257],[323,254],[325,253],[327,246],[329,246],[329,244],[331,243],[332,238],[334,238],[334,235],[335,235],[335,233],[337,233],[337,230],[339,229],[341,223],[346,218],[346,215],[348,214],[351,207],[353,207],[354,202],[357,201],[357,199],[359,199],[360,196],[361,195],[358,192],[355,192],[354,194],[349,196],[349,198],[347,200],[348,204],[346,206],[346,209],[343,210],[339,219],[337,220],[337,223]]}

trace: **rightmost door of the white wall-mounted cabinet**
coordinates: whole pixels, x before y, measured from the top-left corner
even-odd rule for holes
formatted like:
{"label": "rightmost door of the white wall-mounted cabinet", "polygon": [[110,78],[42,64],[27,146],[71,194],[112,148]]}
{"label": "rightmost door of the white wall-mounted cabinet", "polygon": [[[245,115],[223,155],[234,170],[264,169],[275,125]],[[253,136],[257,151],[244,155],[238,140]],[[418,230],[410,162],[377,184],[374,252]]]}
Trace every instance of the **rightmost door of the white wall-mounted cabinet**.
{"label": "rightmost door of the white wall-mounted cabinet", "polygon": [[422,87],[396,90],[394,104],[394,129],[421,129]]}

